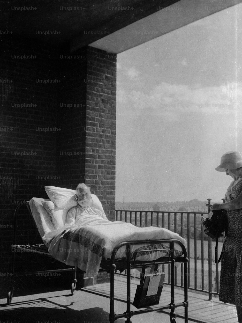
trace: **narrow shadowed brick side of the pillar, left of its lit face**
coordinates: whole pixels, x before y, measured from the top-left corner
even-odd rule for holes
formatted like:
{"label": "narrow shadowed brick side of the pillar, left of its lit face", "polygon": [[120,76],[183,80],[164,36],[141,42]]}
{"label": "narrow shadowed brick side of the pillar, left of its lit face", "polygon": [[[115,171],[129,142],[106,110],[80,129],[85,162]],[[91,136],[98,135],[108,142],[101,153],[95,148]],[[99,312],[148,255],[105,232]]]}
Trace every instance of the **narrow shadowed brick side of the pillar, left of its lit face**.
{"label": "narrow shadowed brick side of the pillar, left of its lit face", "polygon": [[60,51],[58,65],[62,80],[57,99],[58,125],[57,172],[63,187],[75,189],[85,182],[85,125],[86,125],[86,48],[70,55]]}

